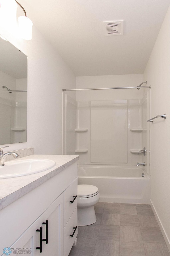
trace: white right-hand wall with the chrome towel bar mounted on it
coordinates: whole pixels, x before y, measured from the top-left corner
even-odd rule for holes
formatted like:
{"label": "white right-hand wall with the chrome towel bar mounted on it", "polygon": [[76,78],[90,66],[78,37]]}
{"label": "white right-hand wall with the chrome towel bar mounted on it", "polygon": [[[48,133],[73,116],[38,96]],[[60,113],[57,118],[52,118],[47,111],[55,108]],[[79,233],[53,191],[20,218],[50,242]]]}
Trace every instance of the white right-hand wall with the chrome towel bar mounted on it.
{"label": "white right-hand wall with the chrome towel bar mounted on it", "polygon": [[[151,85],[150,117],[166,113],[150,123],[151,202],[170,240],[170,8],[165,16],[144,79]],[[169,246],[170,249],[170,246]]]}

